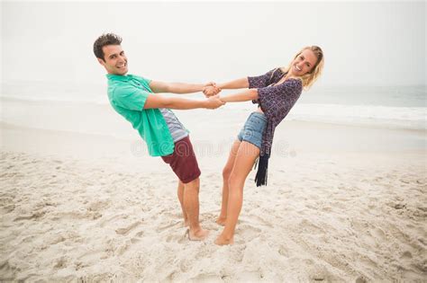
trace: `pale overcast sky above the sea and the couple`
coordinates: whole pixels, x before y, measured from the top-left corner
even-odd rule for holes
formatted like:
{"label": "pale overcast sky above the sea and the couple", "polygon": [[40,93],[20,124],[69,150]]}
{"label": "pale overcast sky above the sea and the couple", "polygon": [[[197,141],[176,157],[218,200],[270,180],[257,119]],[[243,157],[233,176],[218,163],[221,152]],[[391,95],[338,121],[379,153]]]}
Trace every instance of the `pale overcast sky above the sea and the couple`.
{"label": "pale overcast sky above the sea and the couple", "polygon": [[104,84],[93,54],[123,37],[129,72],[224,82],[323,49],[320,85],[425,84],[425,2],[2,2],[2,82]]}

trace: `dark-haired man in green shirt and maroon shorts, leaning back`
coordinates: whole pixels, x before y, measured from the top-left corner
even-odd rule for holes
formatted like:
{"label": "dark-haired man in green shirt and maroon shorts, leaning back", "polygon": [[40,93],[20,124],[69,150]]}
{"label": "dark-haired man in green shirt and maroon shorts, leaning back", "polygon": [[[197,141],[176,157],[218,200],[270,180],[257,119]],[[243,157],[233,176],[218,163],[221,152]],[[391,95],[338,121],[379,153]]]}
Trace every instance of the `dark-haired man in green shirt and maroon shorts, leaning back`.
{"label": "dark-haired man in green shirt and maroon shorts, leaning back", "polygon": [[107,71],[108,98],[114,110],[132,123],[149,147],[151,156],[161,156],[179,179],[177,195],[189,226],[190,240],[203,240],[208,231],[199,224],[199,176],[197,160],[186,128],[169,109],[216,109],[224,103],[217,97],[205,101],[164,97],[154,93],[196,93],[210,84],[181,84],[151,81],[128,73],[128,58],[122,39],[107,33],[94,43],[98,62]]}

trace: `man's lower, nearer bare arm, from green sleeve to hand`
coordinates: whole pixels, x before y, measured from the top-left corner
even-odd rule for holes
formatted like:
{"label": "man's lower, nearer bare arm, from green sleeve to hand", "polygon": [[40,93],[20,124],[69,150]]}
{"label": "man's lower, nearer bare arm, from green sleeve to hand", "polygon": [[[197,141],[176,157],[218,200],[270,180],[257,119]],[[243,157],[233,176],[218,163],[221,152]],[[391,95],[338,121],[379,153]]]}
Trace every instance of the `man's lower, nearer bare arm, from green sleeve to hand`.
{"label": "man's lower, nearer bare arm, from green sleeve to hand", "polygon": [[185,98],[165,97],[161,94],[149,94],[144,104],[144,109],[169,108],[177,110],[189,110],[196,108],[216,109],[225,102],[213,96],[204,101],[195,101]]}

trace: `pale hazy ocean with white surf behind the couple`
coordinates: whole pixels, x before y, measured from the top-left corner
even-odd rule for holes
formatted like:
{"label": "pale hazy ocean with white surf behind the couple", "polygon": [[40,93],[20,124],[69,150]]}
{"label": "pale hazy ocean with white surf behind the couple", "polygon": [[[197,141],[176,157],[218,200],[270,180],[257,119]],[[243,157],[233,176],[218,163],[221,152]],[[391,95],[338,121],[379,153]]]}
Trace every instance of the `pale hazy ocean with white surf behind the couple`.
{"label": "pale hazy ocean with white surf behind the couple", "polygon": [[[102,81],[101,81],[102,82]],[[108,105],[105,84],[8,82],[1,84],[1,121],[14,123],[3,108],[7,100],[21,102],[84,103]],[[234,91],[223,91],[230,94]],[[426,129],[426,86],[325,86],[303,92],[286,119],[332,124]],[[201,93],[184,95],[204,99]],[[251,111],[251,102],[228,103],[223,111]],[[16,117],[16,113],[12,115]]]}

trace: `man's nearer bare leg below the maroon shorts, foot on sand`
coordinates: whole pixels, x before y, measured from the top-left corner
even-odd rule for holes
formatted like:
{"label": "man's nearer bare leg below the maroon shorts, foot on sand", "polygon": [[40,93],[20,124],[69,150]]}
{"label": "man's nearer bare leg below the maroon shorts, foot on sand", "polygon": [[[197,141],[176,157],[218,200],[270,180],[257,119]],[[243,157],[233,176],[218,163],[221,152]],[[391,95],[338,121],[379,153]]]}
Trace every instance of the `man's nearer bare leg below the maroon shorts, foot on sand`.
{"label": "man's nearer bare leg below the maroon shorts, foot on sand", "polygon": [[209,231],[202,229],[199,223],[199,186],[200,179],[184,184],[184,209],[190,226],[189,237],[192,241],[202,241]]}

